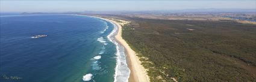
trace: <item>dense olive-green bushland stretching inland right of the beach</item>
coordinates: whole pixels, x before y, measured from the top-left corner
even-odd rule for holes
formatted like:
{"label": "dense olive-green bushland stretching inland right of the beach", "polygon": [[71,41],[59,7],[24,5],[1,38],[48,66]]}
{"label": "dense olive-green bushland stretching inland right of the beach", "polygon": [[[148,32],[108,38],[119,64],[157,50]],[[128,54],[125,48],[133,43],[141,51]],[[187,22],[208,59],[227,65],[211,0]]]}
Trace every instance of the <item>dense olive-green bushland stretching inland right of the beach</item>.
{"label": "dense olive-green bushland stretching inland right of the beach", "polygon": [[[256,81],[234,62],[256,66],[256,25],[233,21],[126,18],[122,37],[152,82]],[[188,29],[195,29],[189,31]],[[255,71],[255,70],[254,70]]]}

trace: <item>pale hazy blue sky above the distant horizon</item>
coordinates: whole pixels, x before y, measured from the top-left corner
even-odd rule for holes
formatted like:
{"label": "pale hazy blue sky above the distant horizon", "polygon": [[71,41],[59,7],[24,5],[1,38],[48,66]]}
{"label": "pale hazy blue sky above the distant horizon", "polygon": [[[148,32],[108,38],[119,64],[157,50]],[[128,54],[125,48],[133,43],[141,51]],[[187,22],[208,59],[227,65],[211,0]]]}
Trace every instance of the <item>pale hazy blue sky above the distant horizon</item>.
{"label": "pale hazy blue sky above the distant horizon", "polygon": [[201,8],[255,9],[256,1],[39,1],[0,0],[3,12],[145,11]]}

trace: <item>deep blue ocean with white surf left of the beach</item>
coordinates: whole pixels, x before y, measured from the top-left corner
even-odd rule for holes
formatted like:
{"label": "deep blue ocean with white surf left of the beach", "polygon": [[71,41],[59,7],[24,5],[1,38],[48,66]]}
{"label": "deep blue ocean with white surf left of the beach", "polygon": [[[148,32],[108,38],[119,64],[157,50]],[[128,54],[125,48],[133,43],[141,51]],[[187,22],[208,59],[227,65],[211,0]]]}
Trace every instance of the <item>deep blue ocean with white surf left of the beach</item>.
{"label": "deep blue ocean with white surf left of the beach", "polygon": [[1,81],[128,81],[113,23],[65,14],[4,15],[0,22]]}

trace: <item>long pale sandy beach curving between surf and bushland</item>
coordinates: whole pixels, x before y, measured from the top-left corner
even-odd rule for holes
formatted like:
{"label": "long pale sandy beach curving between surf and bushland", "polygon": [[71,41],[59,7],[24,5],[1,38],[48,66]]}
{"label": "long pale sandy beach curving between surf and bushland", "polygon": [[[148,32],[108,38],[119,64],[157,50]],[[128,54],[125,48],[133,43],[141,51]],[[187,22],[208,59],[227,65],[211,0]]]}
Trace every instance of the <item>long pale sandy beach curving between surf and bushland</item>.
{"label": "long pale sandy beach curving between surf and bushland", "polygon": [[[101,19],[104,19],[104,18],[101,18]],[[104,19],[104,20],[114,23],[118,28],[118,32],[115,38],[116,38],[116,41],[119,42],[119,44],[123,45],[123,47],[125,48],[125,53],[127,56],[126,60],[128,60],[127,61],[128,67],[131,70],[130,78],[128,79],[128,81],[149,82],[149,77],[147,75],[146,69],[141,65],[139,57],[136,56],[136,52],[133,51],[131,47],[127,44],[127,42],[122,38],[122,26],[114,20],[109,20],[109,19]]]}

